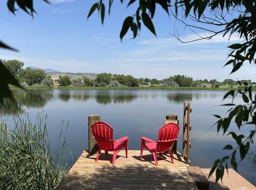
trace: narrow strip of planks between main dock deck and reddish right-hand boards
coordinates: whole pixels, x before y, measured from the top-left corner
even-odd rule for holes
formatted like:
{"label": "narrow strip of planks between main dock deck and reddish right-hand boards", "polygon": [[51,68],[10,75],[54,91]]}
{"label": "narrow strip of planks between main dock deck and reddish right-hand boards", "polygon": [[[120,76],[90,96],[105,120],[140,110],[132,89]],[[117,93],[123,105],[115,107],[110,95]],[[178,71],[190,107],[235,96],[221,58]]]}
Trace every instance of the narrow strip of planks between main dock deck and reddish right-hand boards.
{"label": "narrow strip of planks between main dock deck and reddish right-hand boards", "polygon": [[209,181],[198,166],[188,166],[188,170],[198,190],[209,190]]}

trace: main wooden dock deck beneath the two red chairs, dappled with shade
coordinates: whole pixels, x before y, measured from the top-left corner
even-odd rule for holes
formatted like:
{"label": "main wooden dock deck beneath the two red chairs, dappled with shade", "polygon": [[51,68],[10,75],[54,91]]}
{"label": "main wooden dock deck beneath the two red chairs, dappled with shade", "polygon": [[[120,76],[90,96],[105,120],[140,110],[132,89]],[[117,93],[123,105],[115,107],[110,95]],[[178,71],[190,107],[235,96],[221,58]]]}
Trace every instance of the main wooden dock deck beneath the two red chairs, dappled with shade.
{"label": "main wooden dock deck beneath the two red chairs, dappled with shade", "polygon": [[152,154],[147,150],[140,159],[139,150],[128,150],[118,153],[115,165],[112,165],[111,152],[106,156],[100,154],[95,163],[96,155],[82,153],[67,173],[58,190],[86,189],[173,189],[197,190],[188,164],[178,154],[171,163],[169,155],[158,157],[155,165]]}

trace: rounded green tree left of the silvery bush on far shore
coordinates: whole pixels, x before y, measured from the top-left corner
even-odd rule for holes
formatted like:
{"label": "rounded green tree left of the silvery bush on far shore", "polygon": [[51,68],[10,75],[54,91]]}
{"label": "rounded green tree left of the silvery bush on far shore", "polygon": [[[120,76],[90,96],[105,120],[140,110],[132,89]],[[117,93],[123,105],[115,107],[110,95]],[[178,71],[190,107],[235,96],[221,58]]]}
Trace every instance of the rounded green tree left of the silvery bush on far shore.
{"label": "rounded green tree left of the silvery bush on far shore", "polygon": [[19,80],[26,82],[28,85],[33,85],[40,84],[46,77],[47,74],[43,70],[27,67],[21,71]]}

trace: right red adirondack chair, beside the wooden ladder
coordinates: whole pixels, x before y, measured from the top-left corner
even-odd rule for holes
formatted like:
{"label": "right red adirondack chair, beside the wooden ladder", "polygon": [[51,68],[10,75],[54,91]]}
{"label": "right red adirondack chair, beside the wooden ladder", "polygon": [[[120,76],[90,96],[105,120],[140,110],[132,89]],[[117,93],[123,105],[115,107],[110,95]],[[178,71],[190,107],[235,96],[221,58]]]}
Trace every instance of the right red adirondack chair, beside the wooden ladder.
{"label": "right red adirondack chair, beside the wooden ladder", "polygon": [[[158,141],[151,140],[147,137],[141,137],[141,150],[140,158],[142,158],[142,153],[144,147],[148,149],[149,152],[153,154],[156,165],[158,165],[157,153],[160,156],[163,152],[168,151],[171,157],[171,162],[173,163],[173,156],[171,153],[171,145],[177,140],[180,127],[175,123],[168,123],[159,129]],[[149,142],[149,143],[146,143]]]}

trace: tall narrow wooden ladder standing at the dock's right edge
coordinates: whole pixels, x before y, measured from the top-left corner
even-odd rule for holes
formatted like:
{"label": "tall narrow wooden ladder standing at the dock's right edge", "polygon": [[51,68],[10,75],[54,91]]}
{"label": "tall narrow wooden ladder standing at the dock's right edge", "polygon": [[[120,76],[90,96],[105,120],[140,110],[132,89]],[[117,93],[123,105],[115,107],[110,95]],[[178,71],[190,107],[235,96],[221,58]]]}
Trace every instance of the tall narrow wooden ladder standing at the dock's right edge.
{"label": "tall narrow wooden ladder standing at the dock's right edge", "polygon": [[[192,108],[190,107],[190,103],[184,102],[184,112],[183,112],[183,143],[182,143],[182,156],[186,163],[191,164],[190,162],[190,131],[192,127],[190,126],[190,114],[192,113]],[[187,130],[187,133],[186,133]],[[187,136],[186,136],[187,134]],[[186,150],[185,150],[186,148]]]}

